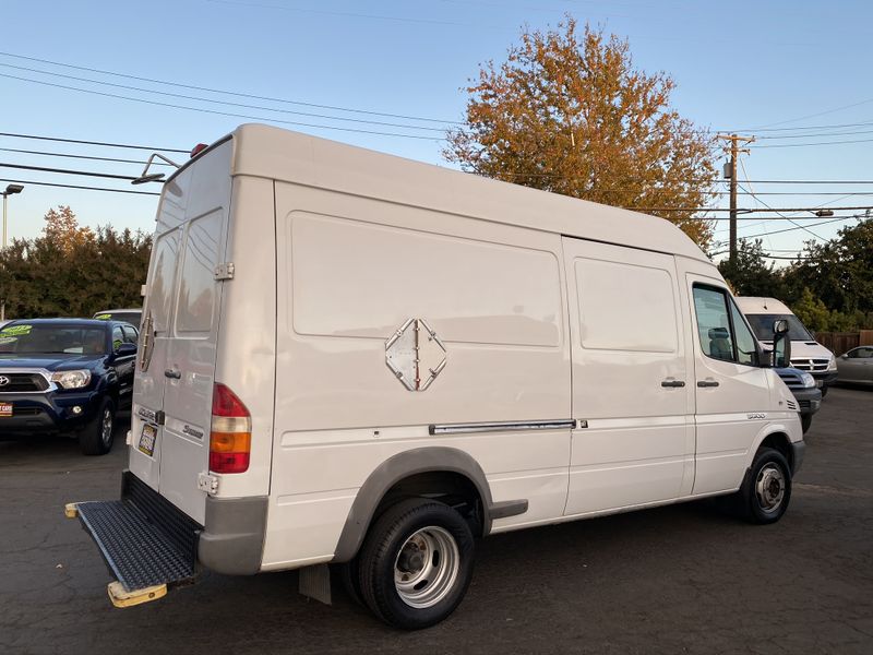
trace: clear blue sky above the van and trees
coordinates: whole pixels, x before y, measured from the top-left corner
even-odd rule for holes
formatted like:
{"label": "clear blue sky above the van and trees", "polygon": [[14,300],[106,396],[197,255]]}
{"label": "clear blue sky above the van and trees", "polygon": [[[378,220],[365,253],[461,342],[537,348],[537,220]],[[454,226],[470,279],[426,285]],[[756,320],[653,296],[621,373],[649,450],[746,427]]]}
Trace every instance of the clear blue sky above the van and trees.
{"label": "clear blue sky above the van and trees", "polygon": [[[4,133],[190,148],[199,142],[220,138],[240,122],[260,118],[262,122],[280,120],[424,136],[410,139],[276,122],[289,129],[444,165],[439,139],[445,123],[440,121],[463,118],[466,96],[461,87],[477,73],[479,64],[489,59],[501,61],[506,48],[517,41],[523,25],[546,28],[570,13],[582,23],[587,21],[627,38],[637,68],[672,75],[678,85],[672,96],[673,106],[698,126],[743,130],[760,138],[780,136],[760,139],[754,144],[779,147],[754,147],[750,156],[743,157],[744,170],[741,169],[740,179],[873,179],[869,156],[873,150],[873,86],[870,84],[873,56],[869,45],[873,3],[870,2],[152,0],[134,3],[83,0],[73,3],[4,0],[2,7],[0,131]],[[64,68],[58,63],[435,121],[216,95]],[[264,108],[208,104],[196,98]],[[415,123],[436,130],[410,130],[336,120],[336,117]],[[853,123],[868,124],[832,127]],[[828,141],[860,143],[784,147]],[[142,166],[10,151],[134,160],[143,160],[150,154],[12,136],[0,136],[0,148],[7,148],[0,150],[0,163],[128,176],[137,175]],[[143,190],[143,187],[110,179],[4,167],[0,167],[0,179],[2,188],[8,180],[33,180]],[[157,190],[157,186],[147,189]],[[774,207],[873,204],[873,183],[753,183],[752,190],[788,193],[760,195],[757,200]],[[833,194],[799,194],[814,192]],[[870,195],[838,195],[848,192],[869,192]],[[763,206],[757,200],[741,196],[740,206]],[[156,198],[147,195],[26,184],[21,195],[9,200],[10,236],[38,235],[43,216],[58,204],[71,205],[83,225],[112,224],[118,228],[148,231],[154,225],[157,203]],[[727,200],[721,204],[726,206]],[[851,213],[837,212],[837,215]],[[829,238],[840,226],[856,223],[854,219],[837,221],[809,227],[811,231],[792,229],[773,234],[796,226],[782,219],[762,221],[763,217],[757,216],[741,221],[740,236],[769,233],[764,237],[764,247],[777,255],[790,254],[804,240],[813,239],[811,233]],[[798,223],[809,226],[822,221],[798,219]],[[717,229],[717,239],[726,239],[727,223],[720,223]]]}

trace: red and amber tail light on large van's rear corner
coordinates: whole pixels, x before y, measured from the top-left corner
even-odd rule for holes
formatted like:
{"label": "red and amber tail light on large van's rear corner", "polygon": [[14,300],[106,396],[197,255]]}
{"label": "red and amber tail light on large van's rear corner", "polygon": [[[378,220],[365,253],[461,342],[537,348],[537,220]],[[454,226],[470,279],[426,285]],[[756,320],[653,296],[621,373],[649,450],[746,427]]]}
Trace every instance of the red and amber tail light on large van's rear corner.
{"label": "red and amber tail light on large van's rear corner", "polygon": [[244,473],[252,450],[252,416],[232,391],[216,382],[212,393],[210,471]]}

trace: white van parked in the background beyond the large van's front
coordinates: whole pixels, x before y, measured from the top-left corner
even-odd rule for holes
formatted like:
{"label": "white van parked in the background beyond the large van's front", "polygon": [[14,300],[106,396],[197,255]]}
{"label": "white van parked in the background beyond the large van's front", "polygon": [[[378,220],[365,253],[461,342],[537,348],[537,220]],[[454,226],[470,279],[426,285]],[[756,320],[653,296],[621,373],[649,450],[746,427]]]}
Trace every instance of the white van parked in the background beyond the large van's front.
{"label": "white van parked in the background beyond the large van's front", "polygon": [[837,379],[837,359],[834,354],[815,341],[812,333],[785,302],[776,298],[738,296],[737,305],[745,314],[755,336],[766,346],[773,345],[773,322],[788,321],[791,368],[809,372],[815,379],[815,384],[822,390],[824,397],[827,388]]}

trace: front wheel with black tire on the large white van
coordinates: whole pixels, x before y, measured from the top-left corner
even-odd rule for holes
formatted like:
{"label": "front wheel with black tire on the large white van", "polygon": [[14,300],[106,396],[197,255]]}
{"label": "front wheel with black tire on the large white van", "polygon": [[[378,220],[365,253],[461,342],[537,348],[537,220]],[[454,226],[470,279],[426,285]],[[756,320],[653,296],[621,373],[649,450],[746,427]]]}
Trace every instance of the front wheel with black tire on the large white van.
{"label": "front wheel with black tire on the large white van", "polygon": [[742,516],[764,525],[782,517],[791,501],[791,467],[777,450],[762,448],[738,492]]}

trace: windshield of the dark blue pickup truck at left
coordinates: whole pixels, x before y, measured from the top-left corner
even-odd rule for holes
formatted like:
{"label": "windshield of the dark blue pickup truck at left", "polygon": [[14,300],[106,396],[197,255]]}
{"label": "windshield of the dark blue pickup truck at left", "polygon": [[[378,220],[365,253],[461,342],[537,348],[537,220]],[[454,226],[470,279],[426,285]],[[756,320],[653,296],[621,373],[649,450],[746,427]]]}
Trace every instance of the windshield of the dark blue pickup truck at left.
{"label": "windshield of the dark blue pickup truck at left", "polygon": [[0,329],[0,354],[106,355],[106,332],[99,327],[16,323]]}

